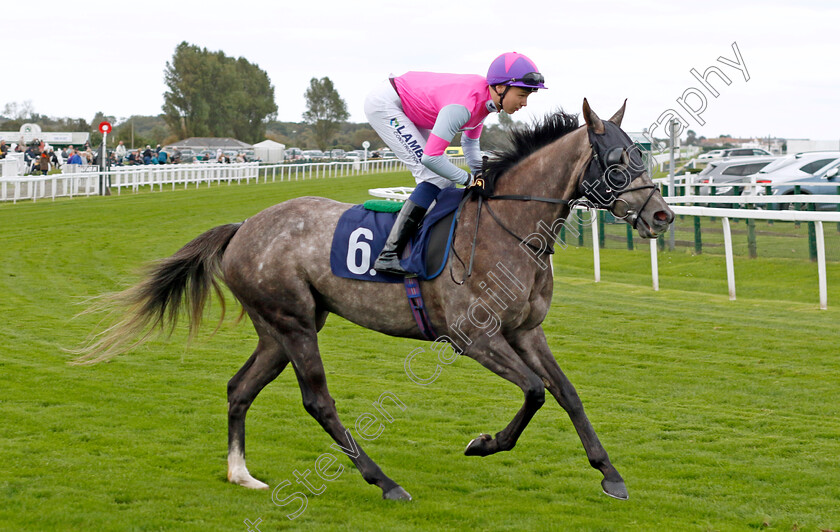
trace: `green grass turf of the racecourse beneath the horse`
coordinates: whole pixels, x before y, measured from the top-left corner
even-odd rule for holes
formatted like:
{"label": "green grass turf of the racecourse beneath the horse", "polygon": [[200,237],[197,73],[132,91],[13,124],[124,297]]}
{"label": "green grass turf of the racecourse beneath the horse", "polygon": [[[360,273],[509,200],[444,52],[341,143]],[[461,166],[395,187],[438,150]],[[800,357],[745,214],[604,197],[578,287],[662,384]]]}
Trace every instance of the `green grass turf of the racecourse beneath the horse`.
{"label": "green grass turf of the racecourse beneath the horse", "polygon": [[[464,456],[471,438],[510,421],[521,393],[465,358],[418,386],[403,363],[425,344],[335,316],[320,347],[339,414],[350,427],[386,391],[406,404],[378,439],[359,443],[411,503],[382,501],[346,457],[342,475],[309,494],[294,521],[285,515],[296,505],[225,481],[225,387],[255,334],[228,319],[211,337],[218,305],[189,346],[179,328],[110,363],[66,364],[61,348],[96,325],[93,316],[72,319],[85,298],[136,281],[142,264],[204,230],[291,197],[362,202],[369,188],[398,185],[411,179],[0,205],[0,529],[246,530],[246,519],[262,519],[262,531],[840,527],[840,268],[829,264],[830,308],[819,311],[807,254],[737,257],[731,302],[719,255],[660,254],[654,292],[646,247],[608,242],[601,283],[592,281],[591,249],[558,250],[545,330],[629,501],[601,493],[600,473],[550,398],[513,451]],[[415,371],[424,370],[432,366],[420,357]],[[330,443],[304,411],[291,368],[249,412],[249,469],[272,487],[314,470]]]}

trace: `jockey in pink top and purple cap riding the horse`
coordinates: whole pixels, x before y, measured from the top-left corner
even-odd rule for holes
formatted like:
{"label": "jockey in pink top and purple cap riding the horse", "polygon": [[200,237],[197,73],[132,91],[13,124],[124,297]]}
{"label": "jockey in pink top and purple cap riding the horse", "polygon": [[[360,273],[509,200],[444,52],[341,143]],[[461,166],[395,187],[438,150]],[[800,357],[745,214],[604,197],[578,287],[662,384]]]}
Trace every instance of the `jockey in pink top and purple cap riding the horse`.
{"label": "jockey in pink top and purple cap riding the horse", "polygon": [[[508,52],[497,57],[487,77],[472,74],[407,72],[392,77],[365,100],[365,115],[394,154],[408,166],[417,183],[400,210],[385,247],[374,263],[379,272],[406,275],[400,254],[426,210],[446,187],[470,186],[481,170],[478,139],[491,112],[515,113],[543,85],[533,61]],[[456,133],[470,171],[444,154]]]}

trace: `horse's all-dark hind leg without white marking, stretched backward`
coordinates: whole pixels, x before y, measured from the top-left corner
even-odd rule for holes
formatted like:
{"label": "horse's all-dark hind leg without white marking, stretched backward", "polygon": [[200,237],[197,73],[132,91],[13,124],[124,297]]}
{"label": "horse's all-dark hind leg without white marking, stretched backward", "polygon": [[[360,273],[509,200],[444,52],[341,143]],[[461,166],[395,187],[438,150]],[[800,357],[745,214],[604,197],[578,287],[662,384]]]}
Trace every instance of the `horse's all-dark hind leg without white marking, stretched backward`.
{"label": "horse's all-dark hind leg without white marking, stretched backward", "polygon": [[[292,359],[306,411],[332,436],[367,483],[379,486],[383,499],[411,500],[411,495],[382,472],[358,446],[350,431],[341,424],[335,401],[327,389],[315,330],[287,332],[283,336],[283,344]],[[333,445],[333,448],[336,446]]]}

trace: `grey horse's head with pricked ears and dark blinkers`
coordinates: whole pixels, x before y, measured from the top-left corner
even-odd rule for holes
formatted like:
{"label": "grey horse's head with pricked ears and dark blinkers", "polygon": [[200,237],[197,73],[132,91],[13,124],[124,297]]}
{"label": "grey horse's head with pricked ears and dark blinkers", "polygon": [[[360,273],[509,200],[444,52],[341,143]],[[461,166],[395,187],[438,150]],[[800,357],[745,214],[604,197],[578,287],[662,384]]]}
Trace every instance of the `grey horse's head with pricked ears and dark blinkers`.
{"label": "grey horse's head with pricked ears and dark blinkers", "polygon": [[607,121],[583,100],[592,158],[578,181],[578,194],[630,224],[642,238],[664,233],[674,212],[647,173],[638,146],[621,129],[624,105]]}

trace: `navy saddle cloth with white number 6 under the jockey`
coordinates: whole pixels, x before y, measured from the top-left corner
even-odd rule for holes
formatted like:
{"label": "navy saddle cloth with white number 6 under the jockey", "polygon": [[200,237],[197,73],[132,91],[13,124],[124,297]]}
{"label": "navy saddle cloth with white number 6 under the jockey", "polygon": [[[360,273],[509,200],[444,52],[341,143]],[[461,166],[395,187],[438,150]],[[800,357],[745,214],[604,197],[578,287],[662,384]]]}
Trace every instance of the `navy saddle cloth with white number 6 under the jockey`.
{"label": "navy saddle cloth with white number 6 under the jockey", "polygon": [[[463,197],[464,189],[452,187],[441,191],[403,253],[400,261],[403,268],[425,281],[440,275],[449,256],[458,205]],[[373,269],[396,219],[397,213],[369,211],[362,205],[354,205],[342,214],[333,233],[330,251],[333,274],[360,281],[402,283],[402,276]]]}

